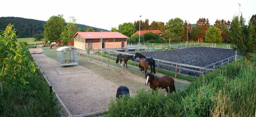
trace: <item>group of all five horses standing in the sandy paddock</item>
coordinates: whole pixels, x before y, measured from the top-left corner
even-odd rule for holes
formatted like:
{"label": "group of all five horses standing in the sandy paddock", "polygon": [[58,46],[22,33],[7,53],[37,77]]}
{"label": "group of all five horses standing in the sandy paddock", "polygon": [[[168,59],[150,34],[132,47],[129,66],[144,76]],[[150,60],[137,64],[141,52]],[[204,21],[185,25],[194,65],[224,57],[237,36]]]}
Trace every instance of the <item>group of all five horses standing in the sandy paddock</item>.
{"label": "group of all five horses standing in the sandy paddock", "polygon": [[[152,73],[155,74],[155,60],[153,58],[147,58],[146,56],[137,52],[135,54],[135,57],[133,57],[133,55],[118,54],[116,63],[119,66],[119,60],[120,60],[120,64],[121,64],[121,61],[123,61],[124,62],[123,66],[126,64],[126,68],[128,68],[127,61],[129,59],[132,59],[133,61],[135,61],[136,58],[140,58],[140,63],[139,63],[140,72],[145,71],[146,85],[149,85],[149,87],[154,91],[157,88],[165,89],[166,90],[165,96],[168,95],[169,91],[170,93],[172,93],[173,91],[176,92],[175,86],[174,86],[174,79],[171,76],[165,75],[159,78],[152,74]],[[151,72],[147,74],[148,66],[150,66]],[[118,87],[116,98],[119,98],[121,95],[129,95],[128,87],[126,86]]]}

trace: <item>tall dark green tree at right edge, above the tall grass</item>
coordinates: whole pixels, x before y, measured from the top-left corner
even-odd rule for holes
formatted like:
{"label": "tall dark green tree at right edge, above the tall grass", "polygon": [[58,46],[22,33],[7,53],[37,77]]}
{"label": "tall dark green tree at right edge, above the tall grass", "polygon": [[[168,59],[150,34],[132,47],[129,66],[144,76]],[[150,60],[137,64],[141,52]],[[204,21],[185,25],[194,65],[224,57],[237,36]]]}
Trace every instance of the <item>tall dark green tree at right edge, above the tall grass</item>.
{"label": "tall dark green tree at right edge, above the tall grass", "polygon": [[231,42],[234,44],[234,50],[239,50],[238,54],[245,56],[249,61],[252,54],[256,52],[256,32],[253,22],[245,25],[242,15],[239,18],[235,16],[231,23]]}

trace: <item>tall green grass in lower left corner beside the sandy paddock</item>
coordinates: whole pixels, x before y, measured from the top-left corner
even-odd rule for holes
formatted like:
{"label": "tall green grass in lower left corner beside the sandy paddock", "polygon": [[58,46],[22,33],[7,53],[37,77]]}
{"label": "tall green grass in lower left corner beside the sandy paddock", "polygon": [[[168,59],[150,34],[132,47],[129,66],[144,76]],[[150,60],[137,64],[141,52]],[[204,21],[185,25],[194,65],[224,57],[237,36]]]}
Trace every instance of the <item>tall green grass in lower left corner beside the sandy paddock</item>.
{"label": "tall green grass in lower left corner beside the sandy paddock", "polygon": [[49,85],[43,82],[39,70],[36,73],[28,70],[28,73],[31,74],[31,78],[26,79],[29,84],[2,82],[0,117],[60,117],[58,101],[49,93]]}

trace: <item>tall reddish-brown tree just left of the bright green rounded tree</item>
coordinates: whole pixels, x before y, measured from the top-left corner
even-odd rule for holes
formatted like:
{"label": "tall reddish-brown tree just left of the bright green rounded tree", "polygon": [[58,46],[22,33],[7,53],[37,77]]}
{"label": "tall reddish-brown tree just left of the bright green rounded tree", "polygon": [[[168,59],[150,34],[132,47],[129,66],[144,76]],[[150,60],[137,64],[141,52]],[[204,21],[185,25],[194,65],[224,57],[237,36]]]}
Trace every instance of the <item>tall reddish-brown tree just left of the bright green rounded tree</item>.
{"label": "tall reddish-brown tree just left of the bright green rounded tree", "polygon": [[202,35],[200,36],[200,40],[204,40],[204,34],[206,32],[206,30],[210,27],[210,23],[208,18],[200,18],[196,21],[196,26],[200,26],[202,27]]}

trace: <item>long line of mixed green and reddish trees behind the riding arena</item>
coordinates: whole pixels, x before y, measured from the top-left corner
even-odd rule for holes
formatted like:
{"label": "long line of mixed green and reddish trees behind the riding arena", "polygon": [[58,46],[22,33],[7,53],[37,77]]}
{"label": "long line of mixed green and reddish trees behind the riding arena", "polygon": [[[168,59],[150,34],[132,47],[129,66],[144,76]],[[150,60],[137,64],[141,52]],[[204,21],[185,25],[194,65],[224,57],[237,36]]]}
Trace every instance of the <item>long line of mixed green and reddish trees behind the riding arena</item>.
{"label": "long line of mixed green and reddish trees behind the riding arena", "polygon": [[[242,17],[242,15],[241,15]],[[252,16],[255,17],[255,15]],[[168,22],[158,22],[153,21],[149,24],[149,20],[146,19],[145,21],[136,20],[134,23],[132,22],[125,22],[118,26],[118,31],[126,36],[129,37],[129,43],[138,43],[138,35],[135,34],[136,31],[139,30],[160,30],[163,32],[162,36],[154,35],[150,32],[145,33],[145,35],[141,35],[142,43],[164,43],[168,42],[169,39],[172,42],[181,42],[181,41],[209,41],[208,37],[206,36],[206,32],[209,27],[210,28],[207,33],[215,33],[216,37],[220,33],[220,37],[218,39],[213,39],[214,41],[211,42],[231,42],[232,38],[232,26],[230,20],[224,19],[217,19],[213,25],[210,25],[209,19],[207,18],[199,18],[196,21],[196,24],[190,24],[187,20],[182,20],[180,18],[173,18],[170,19]],[[112,28],[113,30],[116,28]],[[151,37],[148,35],[151,35]],[[155,37],[153,39],[153,37]],[[212,39],[211,39],[212,40]]]}

